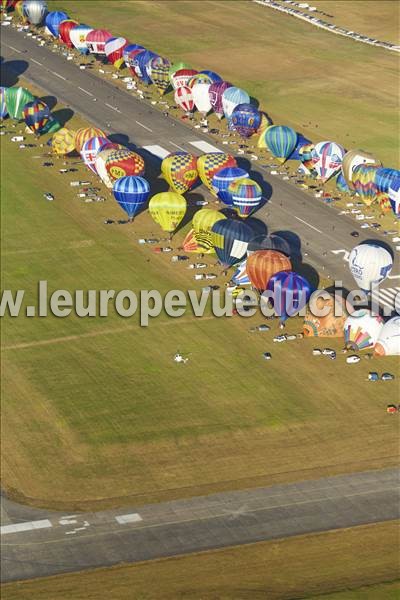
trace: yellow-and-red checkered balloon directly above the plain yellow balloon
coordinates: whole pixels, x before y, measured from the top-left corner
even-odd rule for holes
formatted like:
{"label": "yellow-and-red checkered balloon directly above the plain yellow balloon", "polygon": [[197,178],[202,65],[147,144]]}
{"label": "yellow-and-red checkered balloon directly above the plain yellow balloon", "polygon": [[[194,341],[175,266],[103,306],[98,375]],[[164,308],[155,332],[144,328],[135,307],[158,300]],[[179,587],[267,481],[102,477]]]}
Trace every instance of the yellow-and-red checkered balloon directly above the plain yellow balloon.
{"label": "yellow-and-red checkered balloon directly above the plain yellow balloon", "polygon": [[188,152],[174,152],[162,161],[161,173],[171,190],[184,194],[197,181],[197,159]]}

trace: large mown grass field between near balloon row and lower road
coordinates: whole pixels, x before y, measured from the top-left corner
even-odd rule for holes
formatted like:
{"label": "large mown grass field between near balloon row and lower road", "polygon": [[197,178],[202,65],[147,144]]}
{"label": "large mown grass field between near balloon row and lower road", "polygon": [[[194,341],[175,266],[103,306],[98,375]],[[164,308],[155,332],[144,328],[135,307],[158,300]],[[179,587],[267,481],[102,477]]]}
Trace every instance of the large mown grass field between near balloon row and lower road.
{"label": "large mown grass field between near balloon row and lower road", "polygon": [[[42,152],[3,142],[4,288],[32,300],[39,279],[50,290],[200,288],[168,255],[137,244],[156,231],[147,213],[133,226],[104,226],[122,216],[114,200],[83,204],[68,182],[92,176],[43,168]],[[396,382],[368,383],[365,361],[311,357],[312,340],[272,344],[276,325],[250,334],[259,320],[163,315],[141,328],[116,314],[5,319],[4,487],[88,509],[395,463],[398,420],[385,406]],[[300,329],[291,320],[289,330]],[[192,353],[185,367],[172,362],[177,349]],[[376,368],[399,372],[395,358]]]}

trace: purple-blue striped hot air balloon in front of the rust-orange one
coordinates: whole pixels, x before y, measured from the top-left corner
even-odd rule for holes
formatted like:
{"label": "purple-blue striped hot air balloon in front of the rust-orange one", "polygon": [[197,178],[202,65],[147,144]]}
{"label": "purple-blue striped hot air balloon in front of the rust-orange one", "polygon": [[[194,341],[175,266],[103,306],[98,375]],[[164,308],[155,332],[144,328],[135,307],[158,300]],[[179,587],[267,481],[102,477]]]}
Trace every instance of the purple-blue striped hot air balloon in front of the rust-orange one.
{"label": "purple-blue striped hot air balloon in front of the rust-orange one", "polygon": [[281,322],[298,314],[306,306],[312,292],[307,279],[294,271],[275,273],[267,289],[274,294],[274,309]]}

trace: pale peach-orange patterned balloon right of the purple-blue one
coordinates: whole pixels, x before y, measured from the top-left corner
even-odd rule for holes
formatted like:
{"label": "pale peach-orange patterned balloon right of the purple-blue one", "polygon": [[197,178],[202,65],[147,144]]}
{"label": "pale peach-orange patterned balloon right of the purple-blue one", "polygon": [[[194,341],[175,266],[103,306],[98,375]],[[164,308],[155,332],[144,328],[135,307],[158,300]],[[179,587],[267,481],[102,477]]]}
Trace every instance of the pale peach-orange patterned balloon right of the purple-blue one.
{"label": "pale peach-orange patterned balloon right of the purple-blue one", "polygon": [[332,294],[329,298],[319,296],[315,305],[315,312],[324,316],[314,315],[310,309],[307,310],[303,323],[304,337],[343,337],[344,323],[348,317],[344,299]]}

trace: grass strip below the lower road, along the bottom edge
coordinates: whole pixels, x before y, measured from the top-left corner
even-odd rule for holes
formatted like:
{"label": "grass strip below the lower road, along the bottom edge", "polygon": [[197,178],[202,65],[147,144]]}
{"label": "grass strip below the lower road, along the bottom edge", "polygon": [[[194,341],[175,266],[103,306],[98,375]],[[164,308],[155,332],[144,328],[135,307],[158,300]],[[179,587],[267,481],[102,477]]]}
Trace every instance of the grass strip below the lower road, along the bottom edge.
{"label": "grass strip below the lower road, along the bottom edge", "polygon": [[[397,600],[397,548],[398,526],[389,522],[12,583],[2,591],[4,600]],[[381,581],[389,583],[374,585]]]}

